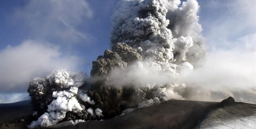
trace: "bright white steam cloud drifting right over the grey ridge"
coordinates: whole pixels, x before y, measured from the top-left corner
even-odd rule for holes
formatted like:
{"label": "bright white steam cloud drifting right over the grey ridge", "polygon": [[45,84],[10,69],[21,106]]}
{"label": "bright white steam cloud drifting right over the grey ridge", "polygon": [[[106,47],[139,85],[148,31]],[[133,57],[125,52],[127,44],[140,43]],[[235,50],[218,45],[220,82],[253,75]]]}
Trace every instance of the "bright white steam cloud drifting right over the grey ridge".
{"label": "bright white steam cloud drifting right over the grey ridge", "polygon": [[232,96],[236,101],[256,104],[255,37],[237,39],[236,47],[212,50],[200,68],[182,71],[180,82],[193,87],[188,99],[220,101]]}

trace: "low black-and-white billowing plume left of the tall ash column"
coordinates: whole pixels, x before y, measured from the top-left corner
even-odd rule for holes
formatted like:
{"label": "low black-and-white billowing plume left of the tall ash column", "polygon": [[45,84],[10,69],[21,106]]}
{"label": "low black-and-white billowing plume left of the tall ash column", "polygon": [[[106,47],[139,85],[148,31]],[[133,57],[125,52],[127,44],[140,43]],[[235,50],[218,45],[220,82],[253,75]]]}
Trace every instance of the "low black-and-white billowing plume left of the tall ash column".
{"label": "low black-and-white billowing plume left of the tall ash column", "polygon": [[102,116],[87,105],[95,103],[81,88],[86,84],[82,73],[67,70],[53,71],[47,77],[37,77],[30,82],[34,116],[40,116],[29,128],[48,127],[65,120],[91,120]]}

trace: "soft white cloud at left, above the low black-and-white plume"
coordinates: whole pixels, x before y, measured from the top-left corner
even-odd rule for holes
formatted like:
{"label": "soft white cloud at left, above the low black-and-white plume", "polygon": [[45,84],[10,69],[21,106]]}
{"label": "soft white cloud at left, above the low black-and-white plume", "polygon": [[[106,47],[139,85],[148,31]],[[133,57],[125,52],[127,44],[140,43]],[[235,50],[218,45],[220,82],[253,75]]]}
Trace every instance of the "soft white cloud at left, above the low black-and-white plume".
{"label": "soft white cloud at left, above the low black-and-white plume", "polygon": [[23,92],[34,77],[48,75],[59,68],[76,69],[76,56],[63,56],[58,47],[46,42],[27,40],[0,51],[0,91]]}

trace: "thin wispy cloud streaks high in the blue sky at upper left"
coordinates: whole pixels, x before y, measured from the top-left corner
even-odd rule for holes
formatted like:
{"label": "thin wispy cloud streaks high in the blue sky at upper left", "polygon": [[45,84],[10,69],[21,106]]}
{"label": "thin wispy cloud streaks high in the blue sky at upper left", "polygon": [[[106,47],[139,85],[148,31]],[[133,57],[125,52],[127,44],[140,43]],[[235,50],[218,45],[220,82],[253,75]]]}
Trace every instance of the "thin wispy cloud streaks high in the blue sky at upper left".
{"label": "thin wispy cloud streaks high in the blue sky at upper left", "polygon": [[13,22],[33,39],[58,39],[63,43],[89,41],[79,30],[93,13],[85,0],[30,0],[15,10]]}

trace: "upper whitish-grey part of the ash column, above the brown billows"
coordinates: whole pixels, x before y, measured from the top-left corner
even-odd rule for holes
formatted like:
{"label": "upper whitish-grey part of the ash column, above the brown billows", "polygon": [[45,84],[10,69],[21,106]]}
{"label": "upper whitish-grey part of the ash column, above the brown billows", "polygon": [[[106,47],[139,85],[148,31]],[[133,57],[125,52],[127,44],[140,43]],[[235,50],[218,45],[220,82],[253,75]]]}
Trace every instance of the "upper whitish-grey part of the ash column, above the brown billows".
{"label": "upper whitish-grey part of the ash column, above the brown billows", "polygon": [[169,67],[170,63],[196,63],[204,55],[199,6],[196,0],[180,4],[180,0],[119,2],[112,18],[112,44],[127,43],[143,59],[153,58]]}

